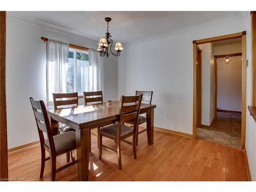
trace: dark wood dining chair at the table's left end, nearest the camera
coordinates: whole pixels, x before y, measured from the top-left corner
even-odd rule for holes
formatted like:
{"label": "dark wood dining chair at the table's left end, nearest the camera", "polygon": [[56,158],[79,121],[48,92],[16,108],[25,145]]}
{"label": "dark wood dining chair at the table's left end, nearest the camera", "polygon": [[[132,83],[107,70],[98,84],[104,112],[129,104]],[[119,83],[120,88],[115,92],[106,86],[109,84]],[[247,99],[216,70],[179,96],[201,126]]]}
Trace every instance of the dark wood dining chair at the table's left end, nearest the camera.
{"label": "dark wood dining chair at the table's left end, nearest the camera", "polygon": [[[40,178],[44,176],[45,162],[51,160],[51,181],[55,181],[57,172],[77,163],[77,160],[73,159],[71,163],[56,169],[57,156],[76,150],[76,134],[75,132],[66,132],[53,136],[44,101],[35,101],[30,97],[30,102],[34,112],[41,146]],[[47,134],[47,139],[44,137],[44,132]],[[46,158],[46,151],[50,157]]]}

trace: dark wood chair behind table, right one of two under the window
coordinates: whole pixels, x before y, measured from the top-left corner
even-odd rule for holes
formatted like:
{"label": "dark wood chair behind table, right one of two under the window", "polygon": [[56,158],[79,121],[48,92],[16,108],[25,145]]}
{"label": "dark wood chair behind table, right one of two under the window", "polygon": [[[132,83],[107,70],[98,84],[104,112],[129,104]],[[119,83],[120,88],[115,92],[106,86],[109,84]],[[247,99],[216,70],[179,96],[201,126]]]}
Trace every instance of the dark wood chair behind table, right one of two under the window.
{"label": "dark wood chair behind table, right one of two under the window", "polygon": [[[102,91],[91,91],[91,92],[83,92],[83,101],[84,105],[91,105],[91,104],[102,104],[103,103],[103,94]],[[98,130],[100,127],[98,127]],[[98,138],[98,135],[91,133],[90,134],[96,136]],[[98,145],[99,148],[99,145]],[[90,137],[90,152],[92,151],[91,146],[91,137]]]}

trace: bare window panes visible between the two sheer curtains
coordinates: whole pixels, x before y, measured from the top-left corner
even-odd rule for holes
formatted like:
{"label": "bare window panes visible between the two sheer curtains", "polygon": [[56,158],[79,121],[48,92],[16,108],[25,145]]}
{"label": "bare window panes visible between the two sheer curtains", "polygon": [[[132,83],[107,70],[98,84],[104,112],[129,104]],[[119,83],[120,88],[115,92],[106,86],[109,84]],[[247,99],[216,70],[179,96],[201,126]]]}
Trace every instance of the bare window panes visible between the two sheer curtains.
{"label": "bare window panes visible between the two sheer curtains", "polygon": [[66,92],[89,91],[89,55],[86,51],[69,49],[69,62],[66,76]]}

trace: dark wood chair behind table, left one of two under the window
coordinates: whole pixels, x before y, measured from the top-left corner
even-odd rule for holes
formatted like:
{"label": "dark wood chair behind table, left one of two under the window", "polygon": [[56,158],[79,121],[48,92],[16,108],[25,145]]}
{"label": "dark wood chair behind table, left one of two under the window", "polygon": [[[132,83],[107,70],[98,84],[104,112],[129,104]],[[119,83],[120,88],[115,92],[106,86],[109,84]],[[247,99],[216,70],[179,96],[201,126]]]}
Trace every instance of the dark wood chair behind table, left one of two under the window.
{"label": "dark wood chair behind table, left one of two under the window", "polygon": [[[52,97],[53,97],[54,109],[65,108],[65,106],[66,107],[67,106],[68,107],[78,106],[78,93],[77,92],[75,92],[75,93],[53,93]],[[59,123],[58,131],[60,133],[65,133],[65,132],[75,131],[75,130],[66,124]],[[70,154],[71,154],[71,158],[74,159],[72,152],[67,153],[67,162],[70,161]]]}

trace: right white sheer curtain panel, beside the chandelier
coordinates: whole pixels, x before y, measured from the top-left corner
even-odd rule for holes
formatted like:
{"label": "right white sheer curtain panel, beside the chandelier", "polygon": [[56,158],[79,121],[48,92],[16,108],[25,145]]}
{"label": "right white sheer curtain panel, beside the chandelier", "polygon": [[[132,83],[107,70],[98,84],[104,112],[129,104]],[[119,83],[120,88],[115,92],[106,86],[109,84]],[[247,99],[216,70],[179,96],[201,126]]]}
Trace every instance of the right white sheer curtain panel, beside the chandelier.
{"label": "right white sheer curtain panel, beside the chandelier", "polygon": [[89,49],[89,90],[103,91],[103,58],[95,49]]}

